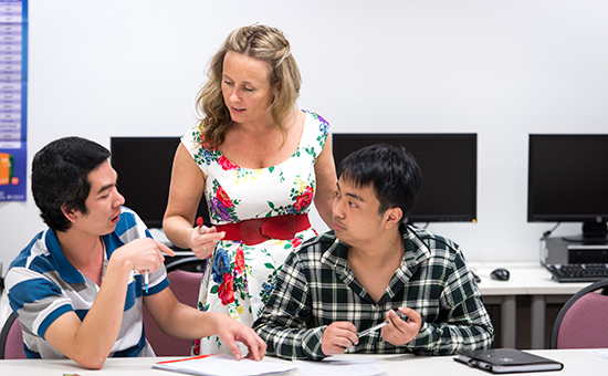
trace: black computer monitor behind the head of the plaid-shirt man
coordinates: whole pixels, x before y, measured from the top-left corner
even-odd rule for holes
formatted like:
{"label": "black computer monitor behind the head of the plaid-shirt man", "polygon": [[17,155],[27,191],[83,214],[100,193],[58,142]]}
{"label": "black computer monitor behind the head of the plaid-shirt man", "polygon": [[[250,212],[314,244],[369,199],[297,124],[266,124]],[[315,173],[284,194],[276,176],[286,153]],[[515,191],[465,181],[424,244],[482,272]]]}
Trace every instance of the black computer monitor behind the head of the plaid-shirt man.
{"label": "black computer monitor behind the head of the plaid-shirt man", "polygon": [[407,221],[476,221],[476,134],[345,134],[333,137],[336,166],[350,153],[373,144],[401,145],[420,166],[422,186]]}

